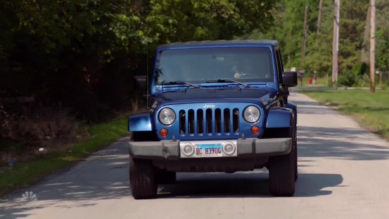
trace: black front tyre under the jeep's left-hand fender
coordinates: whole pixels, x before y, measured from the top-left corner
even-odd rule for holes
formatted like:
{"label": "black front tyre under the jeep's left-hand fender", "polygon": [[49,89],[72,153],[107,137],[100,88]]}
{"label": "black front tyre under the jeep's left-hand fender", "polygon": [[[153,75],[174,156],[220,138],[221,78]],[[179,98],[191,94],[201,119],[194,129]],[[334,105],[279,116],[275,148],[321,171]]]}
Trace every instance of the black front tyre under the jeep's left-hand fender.
{"label": "black front tyre under the jeep's left-hand fender", "polygon": [[130,158],[130,189],[134,199],[157,196],[156,171],[151,161]]}

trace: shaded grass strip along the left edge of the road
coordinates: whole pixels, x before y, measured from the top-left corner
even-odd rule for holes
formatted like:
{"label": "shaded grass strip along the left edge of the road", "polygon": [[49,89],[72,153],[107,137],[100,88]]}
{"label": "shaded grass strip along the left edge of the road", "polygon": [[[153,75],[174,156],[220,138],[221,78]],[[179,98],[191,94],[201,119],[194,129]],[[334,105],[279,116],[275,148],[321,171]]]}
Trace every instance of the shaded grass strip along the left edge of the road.
{"label": "shaded grass strip along the left edge of the road", "polygon": [[88,154],[128,135],[127,117],[91,125],[88,133],[90,138],[72,144],[66,151],[52,152],[35,161],[16,164],[13,168],[1,172],[0,197],[15,189],[34,184],[44,176],[72,165]]}

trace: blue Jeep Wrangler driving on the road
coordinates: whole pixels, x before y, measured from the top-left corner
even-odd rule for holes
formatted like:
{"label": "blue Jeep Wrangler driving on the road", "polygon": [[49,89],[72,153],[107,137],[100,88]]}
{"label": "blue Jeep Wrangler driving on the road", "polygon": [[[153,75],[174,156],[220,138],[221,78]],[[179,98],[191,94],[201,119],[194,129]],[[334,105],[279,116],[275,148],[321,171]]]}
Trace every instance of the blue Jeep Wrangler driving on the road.
{"label": "blue Jeep Wrangler driving on the road", "polygon": [[[147,85],[150,84],[150,86]],[[296,104],[275,40],[176,42],[156,49],[153,74],[135,78],[148,112],[129,118],[130,188],[157,196],[177,172],[269,170],[270,193],[297,179]]]}

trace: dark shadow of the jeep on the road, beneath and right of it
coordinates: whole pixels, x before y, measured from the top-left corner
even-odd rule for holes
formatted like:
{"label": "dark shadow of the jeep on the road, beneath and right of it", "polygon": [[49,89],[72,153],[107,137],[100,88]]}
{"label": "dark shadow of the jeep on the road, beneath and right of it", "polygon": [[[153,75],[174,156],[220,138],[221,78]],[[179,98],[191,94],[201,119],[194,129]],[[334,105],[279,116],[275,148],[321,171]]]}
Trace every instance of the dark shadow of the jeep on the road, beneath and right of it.
{"label": "dark shadow of the jeep on the road, beneath and right of it", "polygon": [[[342,182],[343,177],[339,174],[302,173],[299,174],[293,197],[330,195],[331,187],[337,187]],[[265,171],[234,174],[183,173],[178,175],[176,184],[161,185],[158,193],[160,199],[237,197],[272,198],[268,174]]]}

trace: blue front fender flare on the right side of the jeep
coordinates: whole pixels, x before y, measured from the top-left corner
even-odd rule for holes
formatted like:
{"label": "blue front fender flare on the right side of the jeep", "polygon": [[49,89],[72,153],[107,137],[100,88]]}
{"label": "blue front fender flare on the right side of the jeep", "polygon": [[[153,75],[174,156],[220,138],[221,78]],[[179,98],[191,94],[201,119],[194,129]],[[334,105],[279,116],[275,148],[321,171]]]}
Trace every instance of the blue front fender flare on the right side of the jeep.
{"label": "blue front fender flare on the right side of the jeep", "polygon": [[266,128],[289,128],[293,110],[288,108],[274,107],[269,110],[266,121]]}

